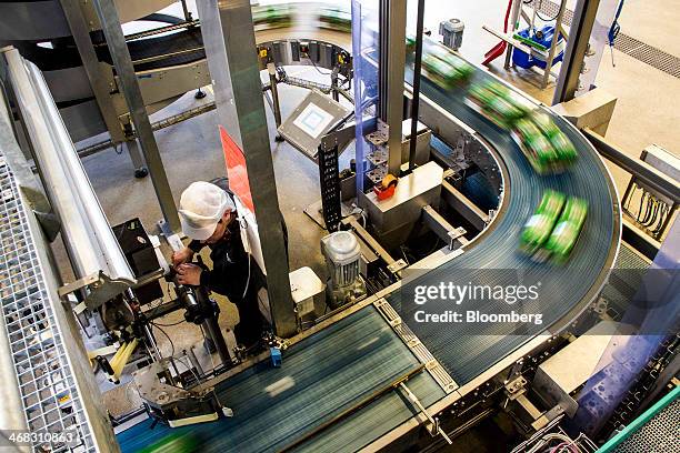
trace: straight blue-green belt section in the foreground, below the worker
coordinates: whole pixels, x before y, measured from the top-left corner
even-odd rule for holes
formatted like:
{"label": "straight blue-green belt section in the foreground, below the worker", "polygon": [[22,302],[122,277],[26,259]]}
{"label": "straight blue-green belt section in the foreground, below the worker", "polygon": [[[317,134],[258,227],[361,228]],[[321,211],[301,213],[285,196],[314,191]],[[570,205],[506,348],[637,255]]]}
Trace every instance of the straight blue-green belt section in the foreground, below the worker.
{"label": "straight blue-green belt section in the foreground, below the worker", "polygon": [[[149,420],[119,434],[118,440],[123,452],[136,452],[168,436],[187,436],[206,452],[278,451],[418,365],[377,309],[368,305],[293,344],[284,351],[280,369],[264,362],[223,382],[218,395],[233,410],[232,419],[153,430]],[[444,394],[427,372],[407,385],[426,405]],[[417,413],[398,392],[386,393],[297,450],[360,449]]]}

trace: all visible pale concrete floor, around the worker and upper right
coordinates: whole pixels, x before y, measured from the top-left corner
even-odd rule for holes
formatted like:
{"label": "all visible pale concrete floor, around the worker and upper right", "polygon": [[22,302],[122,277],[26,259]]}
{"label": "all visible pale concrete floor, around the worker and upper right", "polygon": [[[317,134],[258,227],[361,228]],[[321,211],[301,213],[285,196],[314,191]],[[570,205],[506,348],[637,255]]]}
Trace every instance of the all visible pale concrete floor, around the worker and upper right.
{"label": "all visible pale concrete floor, around the worker and upper right", "polygon": [[[497,39],[481,29],[488,24],[500,29],[506,8],[506,0],[477,0],[474,2],[451,2],[448,0],[428,0],[426,27],[438,30],[440,20],[458,17],[466,22],[466,34],[461,52],[471,61],[479,62],[483,53],[496,44]],[[410,8],[414,8],[411,1]],[[414,17],[414,14],[410,14]],[[649,44],[680,56],[680,42],[669,40],[674,34],[680,20],[680,0],[629,0],[621,18],[622,31]],[[600,66],[597,84],[619,98],[614,117],[611,121],[608,139],[620,145],[630,155],[638,157],[642,148],[657,143],[678,154],[680,128],[676,107],[680,104],[680,80],[656,70],[621,52],[614,51],[617,67],[610,63],[609,50]],[[526,90],[539,100],[551,99],[551,87],[539,90],[536,76],[527,71],[504,71],[501,59],[490,70]],[[320,77],[313,69],[294,69],[300,77]],[[292,74],[292,71],[291,71]],[[303,90],[283,87],[280,90],[283,117],[294,108]],[[202,102],[209,102],[211,95],[197,101],[189,93],[166,110],[158,112],[153,119],[163,118]],[[267,108],[270,137],[273,138],[273,118]],[[192,181],[210,180],[224,174],[224,161],[220,148],[214,112],[194,118],[161,130],[156,134],[161,150],[168,179],[176,200],[181,191]],[[323,235],[303,210],[319,200],[317,165],[288,143],[274,143],[272,157],[279,192],[279,202],[286,217],[290,241],[290,268],[310,265],[323,274],[323,263],[319,253],[319,240]],[[147,229],[153,230],[161,212],[154,198],[150,178],[137,180],[127,153],[118,154],[107,150],[83,159],[84,168],[111,224],[139,217]],[[621,171],[613,172],[619,190],[626,187],[629,175]],[[63,254],[58,253],[60,260]],[[237,321],[236,310],[222,301],[221,323],[233,325]],[[179,320],[180,314],[168,316],[163,323]],[[187,326],[172,329],[176,350],[199,344],[201,335],[198,328]],[[170,351],[169,343],[159,335],[163,352]],[[209,358],[203,356],[203,360]],[[131,395],[132,393],[132,395]],[[123,397],[124,395],[124,397]],[[138,404],[133,392],[121,386],[107,395],[111,410],[121,413]]]}

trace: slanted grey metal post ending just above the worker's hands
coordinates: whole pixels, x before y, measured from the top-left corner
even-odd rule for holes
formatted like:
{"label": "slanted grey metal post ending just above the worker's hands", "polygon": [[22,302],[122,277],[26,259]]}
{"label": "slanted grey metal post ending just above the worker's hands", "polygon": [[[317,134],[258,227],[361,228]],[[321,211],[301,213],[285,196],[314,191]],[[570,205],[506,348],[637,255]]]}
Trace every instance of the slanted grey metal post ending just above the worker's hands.
{"label": "slanted grey metal post ending just above the worker's hands", "polygon": [[156,195],[158,197],[166,222],[162,226],[167,226],[166,230],[177,233],[180,231],[177,205],[172,198],[172,191],[170,190],[170,183],[168,182],[166,169],[163,168],[163,162],[158,150],[158,143],[156,143],[141,90],[137,81],[137,76],[134,74],[134,67],[132,66],[130,51],[128,50],[126,37],[120,26],[116,3],[113,0],[94,0],[93,3],[104,37],[107,38],[109,51],[111,52],[116,72],[118,73],[118,81],[126,98],[126,102],[128,103],[128,109],[130,110],[130,115],[134,123],[137,135],[139,137],[144,160],[147,161],[147,165],[149,165],[153,189],[156,190]]}

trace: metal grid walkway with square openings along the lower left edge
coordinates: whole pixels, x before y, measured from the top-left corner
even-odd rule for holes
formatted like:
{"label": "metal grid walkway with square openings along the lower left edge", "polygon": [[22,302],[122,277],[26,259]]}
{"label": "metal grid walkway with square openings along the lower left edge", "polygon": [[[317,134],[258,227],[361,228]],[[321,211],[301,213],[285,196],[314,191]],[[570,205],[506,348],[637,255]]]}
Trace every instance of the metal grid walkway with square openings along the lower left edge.
{"label": "metal grid walkway with square openings along the lower left edge", "polygon": [[52,312],[37,244],[19,189],[0,150],[0,305],[26,421],[32,433],[69,433],[67,444],[34,442],[36,452],[94,451]]}

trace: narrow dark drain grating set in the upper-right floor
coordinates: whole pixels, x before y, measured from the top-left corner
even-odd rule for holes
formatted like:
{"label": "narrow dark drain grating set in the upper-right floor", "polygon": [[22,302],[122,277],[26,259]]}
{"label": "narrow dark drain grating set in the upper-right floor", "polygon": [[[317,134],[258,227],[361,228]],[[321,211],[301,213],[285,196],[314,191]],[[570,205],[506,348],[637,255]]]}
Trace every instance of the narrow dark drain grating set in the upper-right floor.
{"label": "narrow dark drain grating set in the upper-right floor", "polygon": [[[547,14],[548,18],[553,18],[557,16],[560,8],[558,3],[548,0],[533,0],[534,4],[537,2],[539,6],[538,11]],[[563,22],[570,26],[572,20],[573,11],[564,11]],[[614,39],[614,49],[634,58],[638,61],[649,64],[659,71],[680,79],[680,58],[664,52],[661,49],[649,46],[626,33],[619,33],[619,36]]]}

